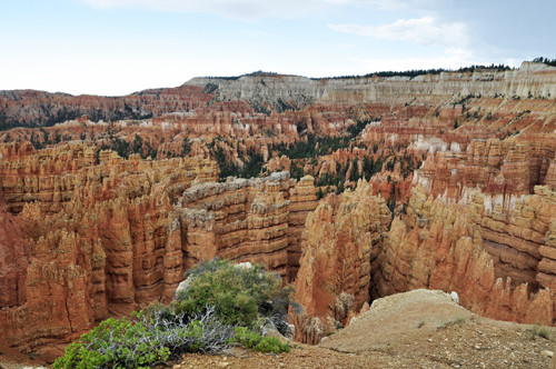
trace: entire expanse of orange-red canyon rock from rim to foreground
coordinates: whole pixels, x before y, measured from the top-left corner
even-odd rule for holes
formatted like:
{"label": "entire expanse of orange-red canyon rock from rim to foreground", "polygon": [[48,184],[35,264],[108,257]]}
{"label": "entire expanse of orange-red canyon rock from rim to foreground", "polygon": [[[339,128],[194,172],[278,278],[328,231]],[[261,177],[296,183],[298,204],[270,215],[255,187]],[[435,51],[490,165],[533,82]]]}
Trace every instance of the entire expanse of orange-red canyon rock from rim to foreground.
{"label": "entire expanse of orange-red canyon rock from rim to foreground", "polygon": [[[53,356],[98,320],[169,301],[183,271],[215,256],[262,261],[295,280],[315,319],[348,319],[336,309],[342,292],[359,309],[427,287],[456,290],[489,317],[552,325],[555,76],[524,63],[414,79],[199,79],[113,99],[2,91],[4,123],[66,122],[0,134],[18,141],[0,146],[0,283],[9,287],[0,330],[9,345]],[[315,212],[309,176],[207,183],[218,177],[212,146],[238,167],[260,153],[268,171],[288,170],[288,158],[271,156],[306,133],[338,138],[364,121],[348,148],[316,164],[296,159],[317,181],[339,164],[348,180],[364,157],[383,160],[368,183]],[[97,150],[126,144],[129,159]],[[411,166],[386,164],[394,158]],[[410,183],[407,168],[421,160]],[[423,190],[399,220],[411,186]],[[391,195],[396,219],[383,241]],[[322,335],[320,323],[304,327],[310,341]]]}

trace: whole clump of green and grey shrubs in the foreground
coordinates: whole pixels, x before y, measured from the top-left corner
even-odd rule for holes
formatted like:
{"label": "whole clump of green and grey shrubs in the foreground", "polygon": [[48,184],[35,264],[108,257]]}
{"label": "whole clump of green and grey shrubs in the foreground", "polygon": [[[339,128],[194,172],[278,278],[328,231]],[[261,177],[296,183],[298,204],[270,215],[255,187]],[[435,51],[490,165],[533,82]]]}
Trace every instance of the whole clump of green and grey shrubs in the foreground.
{"label": "whole clump of green and grey shrubs in the foreground", "polygon": [[107,319],[58,358],[56,369],[150,368],[185,352],[219,352],[235,345],[260,352],[289,352],[270,325],[287,329],[294,290],[262,265],[235,267],[215,258],[186,273],[187,287],[170,306],[153,305],[131,318]]}

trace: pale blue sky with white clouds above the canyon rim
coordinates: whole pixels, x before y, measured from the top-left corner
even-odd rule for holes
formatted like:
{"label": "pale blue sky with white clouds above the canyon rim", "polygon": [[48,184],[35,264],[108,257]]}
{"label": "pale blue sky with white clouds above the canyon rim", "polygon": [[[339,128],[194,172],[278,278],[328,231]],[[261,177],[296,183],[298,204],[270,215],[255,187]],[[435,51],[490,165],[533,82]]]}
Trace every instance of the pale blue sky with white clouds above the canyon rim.
{"label": "pale blue sky with white clouds above the canyon rim", "polygon": [[552,0],[0,0],[0,90],[519,67],[556,59],[555,14]]}

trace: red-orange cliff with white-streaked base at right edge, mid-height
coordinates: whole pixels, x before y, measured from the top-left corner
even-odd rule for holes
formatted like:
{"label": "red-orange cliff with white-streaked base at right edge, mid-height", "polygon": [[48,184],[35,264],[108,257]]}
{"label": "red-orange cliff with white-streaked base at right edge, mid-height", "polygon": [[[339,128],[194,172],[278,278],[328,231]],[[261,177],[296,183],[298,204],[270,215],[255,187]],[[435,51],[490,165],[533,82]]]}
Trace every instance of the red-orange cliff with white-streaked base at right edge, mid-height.
{"label": "red-orange cliff with white-streaked base at right edge, mid-height", "polygon": [[468,193],[479,188],[492,196],[494,207],[509,213],[515,199],[533,193],[535,186],[554,186],[555,138],[542,133],[471,139],[465,151],[455,146],[429,150],[414,184],[451,202],[467,201]]}

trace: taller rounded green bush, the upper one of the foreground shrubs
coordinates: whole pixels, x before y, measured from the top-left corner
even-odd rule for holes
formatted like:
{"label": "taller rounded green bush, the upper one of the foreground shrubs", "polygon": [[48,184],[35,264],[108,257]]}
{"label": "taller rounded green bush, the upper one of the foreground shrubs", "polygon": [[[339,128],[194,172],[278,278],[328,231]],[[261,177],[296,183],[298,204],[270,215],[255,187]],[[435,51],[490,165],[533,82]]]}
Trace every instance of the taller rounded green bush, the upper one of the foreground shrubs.
{"label": "taller rounded green bush, the upper one of the foreground shrubs", "polygon": [[284,318],[294,303],[292,287],[281,288],[280,276],[265,271],[264,265],[247,268],[215,258],[200,262],[186,278],[190,281],[177,293],[177,313],[199,313],[215,306],[224,322],[254,327],[259,315]]}

